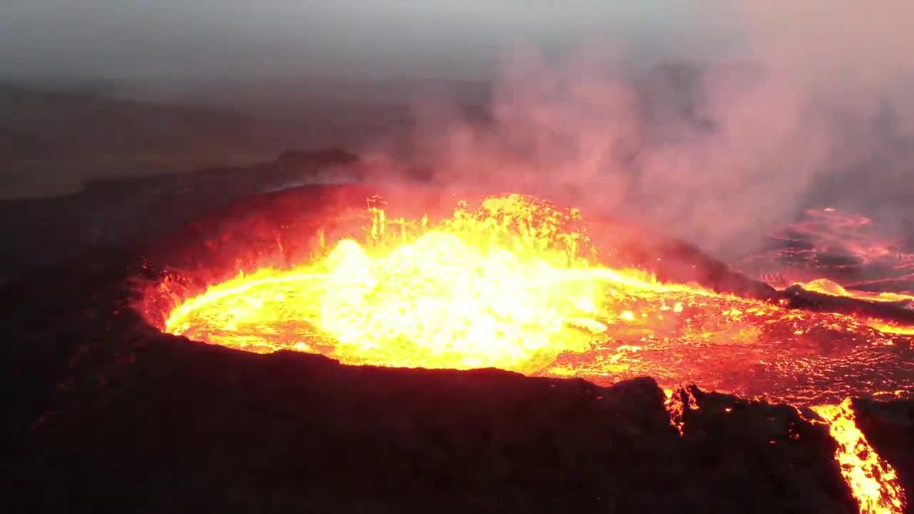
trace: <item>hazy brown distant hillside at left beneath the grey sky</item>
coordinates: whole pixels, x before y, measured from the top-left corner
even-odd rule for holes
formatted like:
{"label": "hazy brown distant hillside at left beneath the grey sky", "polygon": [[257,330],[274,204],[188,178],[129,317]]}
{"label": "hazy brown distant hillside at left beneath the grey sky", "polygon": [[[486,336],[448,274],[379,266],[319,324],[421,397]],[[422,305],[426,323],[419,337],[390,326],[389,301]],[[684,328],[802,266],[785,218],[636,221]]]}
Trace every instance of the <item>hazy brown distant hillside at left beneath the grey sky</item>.
{"label": "hazy brown distant hillside at left beneath the grey sky", "polygon": [[252,163],[295,146],[294,135],[249,114],[0,85],[0,193]]}

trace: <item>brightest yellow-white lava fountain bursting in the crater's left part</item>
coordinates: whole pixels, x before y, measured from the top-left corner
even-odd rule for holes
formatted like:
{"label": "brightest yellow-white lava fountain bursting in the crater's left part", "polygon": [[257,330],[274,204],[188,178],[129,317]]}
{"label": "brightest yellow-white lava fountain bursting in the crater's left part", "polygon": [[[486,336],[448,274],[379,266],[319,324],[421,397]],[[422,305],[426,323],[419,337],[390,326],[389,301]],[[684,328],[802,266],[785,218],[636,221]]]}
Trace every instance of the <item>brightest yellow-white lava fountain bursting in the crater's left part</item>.
{"label": "brightest yellow-white lava fountain bursting in the crater's left part", "polygon": [[590,265],[586,238],[564,230],[577,212],[517,195],[463,205],[411,234],[405,223],[390,233],[383,210],[371,214],[367,244],[346,239],[315,262],[215,285],[178,306],[166,331],[254,351],[323,350],[346,363],[532,372],[606,330],[608,286],[688,289]]}

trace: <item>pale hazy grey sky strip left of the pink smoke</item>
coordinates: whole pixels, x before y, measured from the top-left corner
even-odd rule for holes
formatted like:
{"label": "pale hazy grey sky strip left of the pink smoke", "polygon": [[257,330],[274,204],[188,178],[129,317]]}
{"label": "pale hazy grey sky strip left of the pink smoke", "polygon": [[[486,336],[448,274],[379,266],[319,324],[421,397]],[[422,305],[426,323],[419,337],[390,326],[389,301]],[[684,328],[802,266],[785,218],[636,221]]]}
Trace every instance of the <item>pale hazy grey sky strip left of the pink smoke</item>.
{"label": "pale hazy grey sky strip left of the pink smoke", "polygon": [[714,48],[719,0],[5,0],[0,73],[477,74],[499,49]]}

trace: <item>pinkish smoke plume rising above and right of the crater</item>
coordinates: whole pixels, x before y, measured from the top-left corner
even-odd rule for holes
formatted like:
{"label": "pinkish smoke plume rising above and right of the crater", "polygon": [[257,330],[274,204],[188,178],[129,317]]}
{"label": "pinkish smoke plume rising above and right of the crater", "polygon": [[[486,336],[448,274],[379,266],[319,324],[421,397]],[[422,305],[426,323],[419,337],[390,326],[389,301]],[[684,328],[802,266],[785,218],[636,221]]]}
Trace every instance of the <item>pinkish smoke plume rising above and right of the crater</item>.
{"label": "pinkish smoke plume rising above and right of the crater", "polygon": [[[455,187],[546,191],[722,257],[804,207],[903,220],[914,160],[914,5],[742,0],[714,59],[640,66],[610,36],[505,52],[484,116],[414,102],[373,147]],[[908,209],[909,210],[909,209]]]}

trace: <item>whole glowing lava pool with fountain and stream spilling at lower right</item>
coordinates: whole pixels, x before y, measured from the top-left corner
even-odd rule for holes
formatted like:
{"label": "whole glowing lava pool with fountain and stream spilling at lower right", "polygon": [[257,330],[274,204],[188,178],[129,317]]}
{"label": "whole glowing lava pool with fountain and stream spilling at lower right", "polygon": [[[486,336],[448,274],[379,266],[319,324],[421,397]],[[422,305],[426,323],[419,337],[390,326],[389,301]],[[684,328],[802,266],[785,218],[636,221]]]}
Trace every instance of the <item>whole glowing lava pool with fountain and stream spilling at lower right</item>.
{"label": "whole glowing lava pool with fountain and stream spilling at lower right", "polygon": [[[914,392],[907,378],[914,327],[606,267],[575,209],[510,195],[478,206],[462,202],[436,222],[388,220],[374,207],[365,220],[360,240],[332,241],[321,232],[308,262],[239,274],[196,297],[175,298],[165,330],[355,365],[495,367],[597,383],[647,375],[664,387],[690,382],[798,406]],[[850,295],[831,282],[807,287]],[[881,391],[861,391],[874,375]],[[894,472],[873,464],[875,454],[855,453],[866,440],[854,432],[849,407],[816,412],[843,448],[861,509],[899,511]]]}

